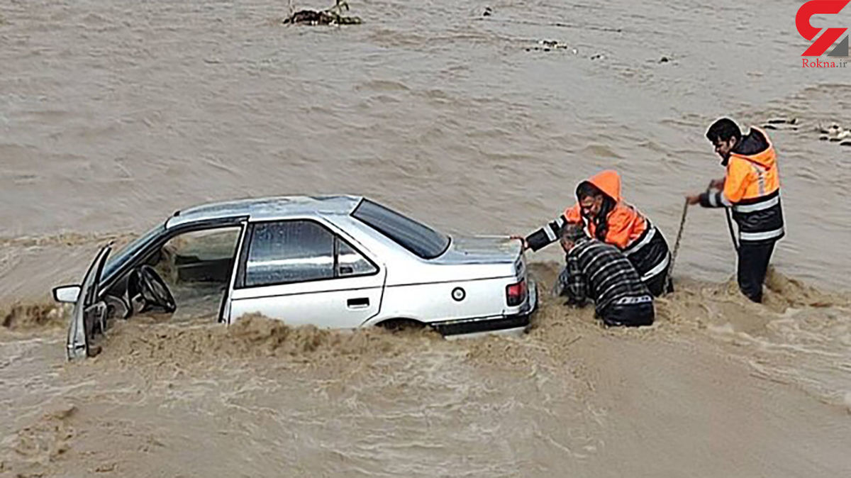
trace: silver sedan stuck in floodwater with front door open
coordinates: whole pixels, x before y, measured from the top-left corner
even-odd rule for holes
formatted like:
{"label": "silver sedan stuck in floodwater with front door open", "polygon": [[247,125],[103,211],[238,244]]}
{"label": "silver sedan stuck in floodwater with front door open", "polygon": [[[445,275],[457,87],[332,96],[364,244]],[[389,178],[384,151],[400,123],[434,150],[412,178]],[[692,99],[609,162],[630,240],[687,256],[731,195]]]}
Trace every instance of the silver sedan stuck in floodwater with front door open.
{"label": "silver sedan stuck in floodwater with front door open", "polygon": [[260,313],[317,327],[418,324],[447,337],[522,332],[537,305],[520,241],[450,237],[363,197],[208,204],[174,213],[107,261],[110,251],[81,285],[54,288],[54,299],[76,304],[69,359],[96,353],[93,337],[112,318],[191,310],[198,297],[212,298],[208,313],[227,324]]}

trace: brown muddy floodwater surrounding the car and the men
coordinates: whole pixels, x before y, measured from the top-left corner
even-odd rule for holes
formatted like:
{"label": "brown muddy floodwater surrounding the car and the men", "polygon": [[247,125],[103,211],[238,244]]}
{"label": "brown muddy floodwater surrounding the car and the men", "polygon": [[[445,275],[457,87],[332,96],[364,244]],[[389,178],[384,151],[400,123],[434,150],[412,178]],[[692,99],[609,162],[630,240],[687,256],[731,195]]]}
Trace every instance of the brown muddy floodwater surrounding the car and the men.
{"label": "brown muddy floodwater surrounding the car and the men", "polygon": [[[0,0],[0,476],[851,475],[851,147],[820,140],[851,127],[851,69],[801,67],[801,4],[368,1],[311,27],[268,0]],[[790,120],[764,305],[694,208],[654,327],[551,299],[554,246],[518,339],[184,304],[65,361],[50,287],[176,209],[349,193],[507,235],[617,168],[673,244],[724,115]]]}

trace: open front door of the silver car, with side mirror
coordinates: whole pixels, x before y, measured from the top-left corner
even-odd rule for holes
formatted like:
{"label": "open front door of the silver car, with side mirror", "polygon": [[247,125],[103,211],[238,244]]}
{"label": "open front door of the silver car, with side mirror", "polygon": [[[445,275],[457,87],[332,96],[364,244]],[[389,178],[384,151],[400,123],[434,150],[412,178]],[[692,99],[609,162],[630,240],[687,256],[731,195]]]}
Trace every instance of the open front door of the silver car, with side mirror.
{"label": "open front door of the silver car, with side mirror", "polygon": [[98,286],[111,249],[111,242],[101,248],[83,277],[68,326],[68,360],[97,355],[98,350],[91,347],[91,339],[94,333],[104,333],[106,330],[106,303],[98,299]]}

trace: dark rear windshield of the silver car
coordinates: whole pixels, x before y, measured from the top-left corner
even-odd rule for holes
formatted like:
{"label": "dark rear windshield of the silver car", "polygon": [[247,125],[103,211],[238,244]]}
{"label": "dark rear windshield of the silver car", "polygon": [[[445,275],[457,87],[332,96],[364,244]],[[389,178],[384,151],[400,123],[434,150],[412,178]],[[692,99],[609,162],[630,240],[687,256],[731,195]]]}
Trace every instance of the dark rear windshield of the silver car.
{"label": "dark rear windshield of the silver car", "polygon": [[449,236],[368,199],[358,204],[351,216],[422,259],[434,259],[449,247]]}

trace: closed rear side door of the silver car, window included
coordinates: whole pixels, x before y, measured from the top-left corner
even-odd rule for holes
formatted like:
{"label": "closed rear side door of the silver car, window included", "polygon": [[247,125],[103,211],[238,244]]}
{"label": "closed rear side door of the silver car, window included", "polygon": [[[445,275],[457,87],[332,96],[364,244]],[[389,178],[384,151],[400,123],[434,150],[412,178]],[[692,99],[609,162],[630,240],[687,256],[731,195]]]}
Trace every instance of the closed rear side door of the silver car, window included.
{"label": "closed rear side door of the silver car, window included", "polygon": [[312,219],[249,225],[227,316],[358,327],[378,314],[386,271],[353,241]]}

